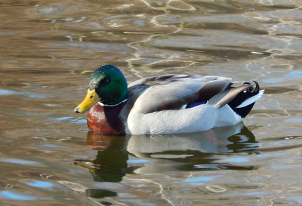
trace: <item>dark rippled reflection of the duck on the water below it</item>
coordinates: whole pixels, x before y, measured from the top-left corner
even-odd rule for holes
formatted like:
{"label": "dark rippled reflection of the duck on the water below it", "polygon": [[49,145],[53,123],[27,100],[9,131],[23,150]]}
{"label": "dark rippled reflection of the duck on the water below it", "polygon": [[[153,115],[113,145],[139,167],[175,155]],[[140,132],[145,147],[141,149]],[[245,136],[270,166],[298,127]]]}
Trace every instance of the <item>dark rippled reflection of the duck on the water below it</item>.
{"label": "dark rippled reflection of the duck on the water below it", "polygon": [[242,123],[176,135],[108,136],[89,131],[86,145],[97,150],[96,158],[78,159],[74,164],[89,170],[95,181],[104,182],[122,181],[128,173],[254,170],[253,165],[223,163],[220,155],[257,153],[259,146],[253,133]]}

